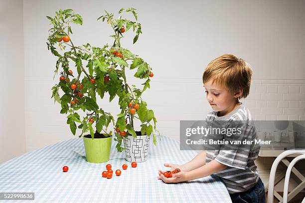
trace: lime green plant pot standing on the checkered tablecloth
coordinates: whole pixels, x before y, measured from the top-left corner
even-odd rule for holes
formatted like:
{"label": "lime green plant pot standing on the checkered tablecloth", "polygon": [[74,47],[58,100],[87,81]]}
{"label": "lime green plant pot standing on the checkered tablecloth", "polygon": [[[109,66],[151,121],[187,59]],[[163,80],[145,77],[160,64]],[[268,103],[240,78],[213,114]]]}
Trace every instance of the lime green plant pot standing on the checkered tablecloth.
{"label": "lime green plant pot standing on the checkered tablecloth", "polygon": [[86,159],[92,163],[104,163],[110,159],[112,136],[106,138],[83,137]]}

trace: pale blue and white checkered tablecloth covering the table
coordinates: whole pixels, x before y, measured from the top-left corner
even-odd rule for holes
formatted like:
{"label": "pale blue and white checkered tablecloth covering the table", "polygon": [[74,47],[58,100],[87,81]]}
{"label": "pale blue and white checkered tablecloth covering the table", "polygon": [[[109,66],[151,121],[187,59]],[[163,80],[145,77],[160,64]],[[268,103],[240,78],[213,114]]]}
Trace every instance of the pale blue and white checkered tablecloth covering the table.
{"label": "pale blue and white checkered tablecloth covering the table", "polygon": [[[0,192],[35,193],[35,201],[7,201],[9,203],[231,203],[225,185],[214,176],[178,184],[165,184],[156,179],[158,169],[167,169],[163,163],[183,164],[198,151],[180,151],[179,142],[161,136],[157,146],[151,142],[148,161],[132,168],[125,160],[125,153],[117,153],[115,144],[113,140],[110,160],[101,164],[86,161],[81,138],[11,159],[0,164]],[[127,170],[122,170],[124,163],[128,165]],[[114,172],[121,169],[122,175],[102,178],[106,164],[111,164]],[[62,172],[63,166],[69,167],[67,173]]]}

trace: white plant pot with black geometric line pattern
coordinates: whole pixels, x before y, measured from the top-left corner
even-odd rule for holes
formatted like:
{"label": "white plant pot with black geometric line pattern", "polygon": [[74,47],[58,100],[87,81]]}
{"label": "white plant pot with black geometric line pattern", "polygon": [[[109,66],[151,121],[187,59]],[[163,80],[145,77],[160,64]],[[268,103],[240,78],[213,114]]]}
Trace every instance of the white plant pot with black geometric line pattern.
{"label": "white plant pot with black geometric line pattern", "polygon": [[125,159],[129,162],[144,162],[148,159],[151,136],[132,135],[124,137]]}

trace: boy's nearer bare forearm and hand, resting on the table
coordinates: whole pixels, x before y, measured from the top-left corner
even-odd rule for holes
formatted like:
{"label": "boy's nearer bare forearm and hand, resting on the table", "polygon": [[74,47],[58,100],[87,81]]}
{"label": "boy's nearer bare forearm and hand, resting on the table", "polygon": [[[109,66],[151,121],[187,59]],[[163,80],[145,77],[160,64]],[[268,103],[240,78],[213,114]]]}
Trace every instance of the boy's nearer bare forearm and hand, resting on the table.
{"label": "boy's nearer bare forearm and hand, resting on the table", "polygon": [[227,168],[226,165],[219,163],[214,159],[211,162],[192,171],[188,171],[188,172],[181,171],[179,173],[173,174],[172,178],[165,178],[163,174],[161,174],[160,178],[165,183],[179,183],[179,182],[190,181],[205,176],[209,176],[218,171],[222,171],[226,168]]}

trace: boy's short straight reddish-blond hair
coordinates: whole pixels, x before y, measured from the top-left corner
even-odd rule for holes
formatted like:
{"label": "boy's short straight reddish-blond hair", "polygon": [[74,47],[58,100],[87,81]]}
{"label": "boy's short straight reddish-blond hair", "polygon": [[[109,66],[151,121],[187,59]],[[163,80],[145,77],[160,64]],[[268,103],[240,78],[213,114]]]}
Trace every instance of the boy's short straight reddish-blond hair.
{"label": "boy's short straight reddish-blond hair", "polygon": [[204,70],[202,81],[226,87],[231,93],[243,91],[240,98],[246,98],[250,92],[252,69],[246,61],[232,54],[224,54],[211,61]]}

